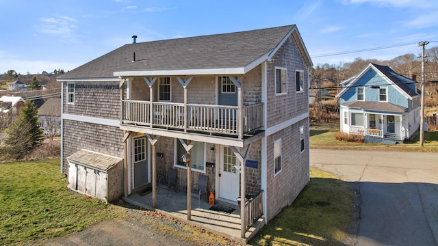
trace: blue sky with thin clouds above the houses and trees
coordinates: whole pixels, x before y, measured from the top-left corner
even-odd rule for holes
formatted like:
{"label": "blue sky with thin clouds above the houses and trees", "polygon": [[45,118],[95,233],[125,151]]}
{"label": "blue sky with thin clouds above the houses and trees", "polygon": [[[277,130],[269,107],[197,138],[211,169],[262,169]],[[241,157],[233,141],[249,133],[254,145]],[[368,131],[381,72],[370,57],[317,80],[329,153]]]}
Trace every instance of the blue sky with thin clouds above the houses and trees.
{"label": "blue sky with thin clouds above the houses and trees", "polygon": [[[133,35],[146,42],[291,24],[315,65],[438,46],[436,0],[0,0],[0,10],[0,73],[73,70]],[[383,46],[392,48],[318,57]]]}

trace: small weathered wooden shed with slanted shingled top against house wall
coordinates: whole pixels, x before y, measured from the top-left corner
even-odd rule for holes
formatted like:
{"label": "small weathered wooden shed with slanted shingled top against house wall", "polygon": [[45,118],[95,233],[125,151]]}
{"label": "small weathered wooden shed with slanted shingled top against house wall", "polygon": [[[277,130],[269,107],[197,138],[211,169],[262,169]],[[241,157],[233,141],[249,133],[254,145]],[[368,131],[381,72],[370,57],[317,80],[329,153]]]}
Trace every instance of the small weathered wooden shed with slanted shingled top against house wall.
{"label": "small weathered wooden shed with slanted shingled top against house wall", "polygon": [[123,194],[123,159],[90,150],[67,157],[68,188],[111,202]]}

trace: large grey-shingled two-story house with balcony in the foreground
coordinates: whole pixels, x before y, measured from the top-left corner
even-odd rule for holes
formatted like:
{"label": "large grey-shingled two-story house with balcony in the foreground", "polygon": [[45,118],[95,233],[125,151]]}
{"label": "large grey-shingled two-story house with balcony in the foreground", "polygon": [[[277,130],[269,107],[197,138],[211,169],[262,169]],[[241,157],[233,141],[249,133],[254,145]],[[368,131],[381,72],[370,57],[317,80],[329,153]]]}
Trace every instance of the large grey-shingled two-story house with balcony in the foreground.
{"label": "large grey-shingled two-story house with balcony in the foreground", "polygon": [[[101,199],[151,185],[159,207],[157,179],[172,168],[184,189],[207,176],[218,201],[259,195],[264,223],[292,204],[309,180],[312,66],[296,25],[136,38],[57,78],[68,186],[99,197],[98,187],[84,188],[100,182],[88,174],[123,165],[114,178],[105,174],[113,188]],[[249,207],[241,208],[243,238]]]}

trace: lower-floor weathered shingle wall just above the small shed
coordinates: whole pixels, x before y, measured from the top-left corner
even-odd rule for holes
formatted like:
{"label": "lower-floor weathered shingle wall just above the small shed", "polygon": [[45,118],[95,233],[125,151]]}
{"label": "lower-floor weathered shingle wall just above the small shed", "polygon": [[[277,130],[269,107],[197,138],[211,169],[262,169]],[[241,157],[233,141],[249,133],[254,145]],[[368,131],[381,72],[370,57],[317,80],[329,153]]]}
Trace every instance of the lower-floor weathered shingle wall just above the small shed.
{"label": "lower-floor weathered shingle wall just above the small shed", "polygon": [[114,126],[103,126],[73,120],[64,120],[63,172],[68,173],[67,156],[86,149],[102,154],[124,157],[123,131]]}

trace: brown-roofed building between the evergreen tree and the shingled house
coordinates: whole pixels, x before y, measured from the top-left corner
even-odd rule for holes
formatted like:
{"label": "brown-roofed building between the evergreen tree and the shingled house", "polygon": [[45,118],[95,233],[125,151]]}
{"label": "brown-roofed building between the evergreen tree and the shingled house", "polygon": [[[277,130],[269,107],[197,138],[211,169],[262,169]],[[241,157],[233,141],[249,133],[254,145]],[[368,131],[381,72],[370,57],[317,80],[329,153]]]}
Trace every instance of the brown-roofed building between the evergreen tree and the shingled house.
{"label": "brown-roofed building between the evergreen tree and the shingled house", "polygon": [[44,136],[53,137],[61,133],[61,98],[49,98],[38,109]]}

